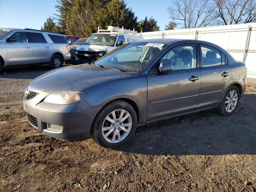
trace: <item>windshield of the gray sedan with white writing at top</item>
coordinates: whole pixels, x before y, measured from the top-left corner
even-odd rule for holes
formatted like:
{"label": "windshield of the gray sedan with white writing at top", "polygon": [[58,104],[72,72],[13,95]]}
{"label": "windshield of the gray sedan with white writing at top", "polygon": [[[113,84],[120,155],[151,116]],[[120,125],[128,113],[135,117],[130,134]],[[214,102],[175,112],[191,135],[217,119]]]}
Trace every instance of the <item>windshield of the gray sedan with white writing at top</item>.
{"label": "windshield of the gray sedan with white writing at top", "polygon": [[166,44],[133,42],[124,44],[106,54],[94,64],[125,72],[139,72]]}

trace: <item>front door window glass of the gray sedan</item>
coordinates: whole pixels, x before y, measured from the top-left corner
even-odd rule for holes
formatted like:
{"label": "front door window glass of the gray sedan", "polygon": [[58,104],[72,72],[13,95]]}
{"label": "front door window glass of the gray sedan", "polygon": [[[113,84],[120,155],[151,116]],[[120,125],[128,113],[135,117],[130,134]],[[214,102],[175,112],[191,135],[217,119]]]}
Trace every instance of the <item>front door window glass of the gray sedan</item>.
{"label": "front door window glass of the gray sedan", "polygon": [[169,59],[172,70],[196,68],[196,45],[184,45],[168,51],[162,59]]}

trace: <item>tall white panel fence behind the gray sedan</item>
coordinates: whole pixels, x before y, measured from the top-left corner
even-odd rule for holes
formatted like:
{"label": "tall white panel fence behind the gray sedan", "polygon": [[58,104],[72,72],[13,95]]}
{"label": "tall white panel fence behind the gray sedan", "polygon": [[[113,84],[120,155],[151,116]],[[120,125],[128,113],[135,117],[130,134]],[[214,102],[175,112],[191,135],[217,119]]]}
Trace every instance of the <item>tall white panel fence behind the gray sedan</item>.
{"label": "tall white panel fence behind the gray sedan", "polygon": [[143,32],[142,37],[212,42],[226,49],[236,60],[245,62],[247,77],[256,78],[256,23]]}

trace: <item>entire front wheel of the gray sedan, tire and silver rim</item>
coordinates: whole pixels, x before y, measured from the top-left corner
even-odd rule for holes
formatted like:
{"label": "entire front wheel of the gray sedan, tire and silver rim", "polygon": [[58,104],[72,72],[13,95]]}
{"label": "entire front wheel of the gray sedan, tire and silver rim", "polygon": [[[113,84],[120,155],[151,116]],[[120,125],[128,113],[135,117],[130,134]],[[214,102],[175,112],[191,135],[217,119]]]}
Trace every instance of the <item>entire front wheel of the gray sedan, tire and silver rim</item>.
{"label": "entire front wheel of the gray sedan, tire and silver rim", "polygon": [[137,127],[134,108],[122,101],[112,101],[97,114],[91,135],[96,143],[107,148],[120,147],[128,142]]}

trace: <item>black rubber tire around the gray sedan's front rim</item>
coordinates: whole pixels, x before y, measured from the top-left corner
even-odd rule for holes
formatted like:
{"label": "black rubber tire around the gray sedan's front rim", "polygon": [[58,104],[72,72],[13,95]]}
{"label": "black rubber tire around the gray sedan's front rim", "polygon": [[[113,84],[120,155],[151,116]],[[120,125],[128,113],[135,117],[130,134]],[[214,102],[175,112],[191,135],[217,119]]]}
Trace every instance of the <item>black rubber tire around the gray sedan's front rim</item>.
{"label": "black rubber tire around the gray sedan's front rim", "polygon": [[[130,128],[130,132],[127,134],[127,136],[117,143],[111,143],[108,142],[102,134],[102,125],[104,123],[105,118],[114,110],[126,110],[132,119],[132,126]],[[110,123],[111,124],[111,123]],[[111,126],[111,125],[110,125]],[[123,144],[127,143],[134,134],[135,130],[137,128],[137,115],[134,110],[134,108],[128,104],[127,102],[124,102],[122,100],[114,100],[106,104],[100,112],[96,115],[94,122],[92,124],[91,129],[91,136],[94,139],[94,141],[99,144],[100,146],[106,147],[106,148],[117,148],[122,146]],[[122,131],[122,130],[121,130]],[[112,132],[111,134],[113,134]],[[110,136],[111,136],[110,134]]]}

